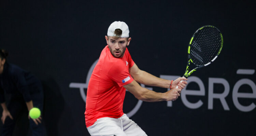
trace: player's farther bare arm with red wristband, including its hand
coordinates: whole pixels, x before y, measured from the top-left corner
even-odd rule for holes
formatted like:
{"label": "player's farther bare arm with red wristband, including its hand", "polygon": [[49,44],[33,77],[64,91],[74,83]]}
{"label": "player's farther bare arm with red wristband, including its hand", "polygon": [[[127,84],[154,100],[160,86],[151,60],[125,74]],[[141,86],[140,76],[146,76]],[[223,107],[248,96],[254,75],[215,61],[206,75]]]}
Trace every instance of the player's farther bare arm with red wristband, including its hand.
{"label": "player's farther bare arm with red wristband, including its hand", "polygon": [[[133,77],[133,79],[139,83],[142,83],[144,85],[148,86],[157,86],[162,88],[170,88],[170,80],[165,80],[158,78],[146,71],[140,70],[138,66],[134,63],[134,65],[129,68],[129,73]],[[175,88],[177,85],[179,88],[183,89],[187,82],[183,81],[180,83],[181,80],[187,80],[186,78],[178,78],[175,81],[172,82],[172,89]]]}

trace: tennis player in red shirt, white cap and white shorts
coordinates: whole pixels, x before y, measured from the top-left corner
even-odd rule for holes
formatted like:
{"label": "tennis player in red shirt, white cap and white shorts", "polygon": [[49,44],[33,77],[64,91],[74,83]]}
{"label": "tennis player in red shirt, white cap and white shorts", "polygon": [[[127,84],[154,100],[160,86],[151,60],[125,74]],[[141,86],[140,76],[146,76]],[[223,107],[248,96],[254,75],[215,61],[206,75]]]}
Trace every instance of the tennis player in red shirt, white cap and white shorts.
{"label": "tennis player in red shirt, white cap and white shorts", "polygon": [[[87,130],[91,136],[147,136],[123,113],[126,89],[142,101],[174,101],[187,84],[180,81],[187,79],[170,81],[140,70],[127,49],[131,37],[125,22],[113,22],[107,35],[105,39],[108,45],[102,50],[88,84],[85,110]],[[170,90],[159,93],[138,83]],[[175,89],[176,86],[179,88]]]}

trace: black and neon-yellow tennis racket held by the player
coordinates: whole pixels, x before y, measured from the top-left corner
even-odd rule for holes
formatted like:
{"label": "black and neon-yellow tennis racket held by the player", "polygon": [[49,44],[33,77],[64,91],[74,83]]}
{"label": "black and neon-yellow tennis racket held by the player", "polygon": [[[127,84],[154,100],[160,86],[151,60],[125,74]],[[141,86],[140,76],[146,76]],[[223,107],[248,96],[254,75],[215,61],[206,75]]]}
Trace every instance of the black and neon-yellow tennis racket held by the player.
{"label": "black and neon-yellow tennis racket held by the player", "polygon": [[[183,77],[188,78],[194,71],[210,65],[216,60],[222,47],[223,37],[221,31],[214,26],[203,26],[199,28],[189,41],[187,51],[188,62]],[[193,63],[196,68],[189,71],[190,63]]]}

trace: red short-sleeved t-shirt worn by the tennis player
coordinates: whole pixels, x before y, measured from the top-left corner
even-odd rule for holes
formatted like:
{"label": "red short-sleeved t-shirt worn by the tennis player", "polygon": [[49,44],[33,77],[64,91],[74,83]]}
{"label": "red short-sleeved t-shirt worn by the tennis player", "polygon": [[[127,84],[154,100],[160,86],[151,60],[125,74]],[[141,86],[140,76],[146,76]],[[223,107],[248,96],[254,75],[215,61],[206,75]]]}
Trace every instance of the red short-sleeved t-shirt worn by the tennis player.
{"label": "red short-sleeved t-shirt worn by the tennis player", "polygon": [[102,50],[87,88],[85,123],[93,125],[99,118],[119,118],[123,113],[126,89],[133,81],[129,68],[134,62],[126,48],[123,57],[114,57],[108,45]]}

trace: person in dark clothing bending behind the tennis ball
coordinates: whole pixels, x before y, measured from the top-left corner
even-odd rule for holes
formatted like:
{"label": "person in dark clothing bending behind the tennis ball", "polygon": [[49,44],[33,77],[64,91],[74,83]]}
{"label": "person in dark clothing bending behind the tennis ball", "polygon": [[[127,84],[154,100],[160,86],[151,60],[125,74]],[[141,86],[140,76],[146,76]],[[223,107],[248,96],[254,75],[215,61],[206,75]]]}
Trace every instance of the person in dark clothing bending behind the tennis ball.
{"label": "person in dark clothing bending behind the tennis ball", "polygon": [[[11,136],[17,118],[24,109],[30,111],[33,107],[43,113],[43,87],[41,82],[30,72],[6,62],[8,53],[0,49],[0,103],[3,108],[1,120],[3,122],[1,136]],[[10,94],[10,101],[6,106],[4,92]],[[26,104],[25,104],[26,103]],[[41,116],[37,119],[29,118],[33,136],[43,136],[45,129],[41,123]]]}

